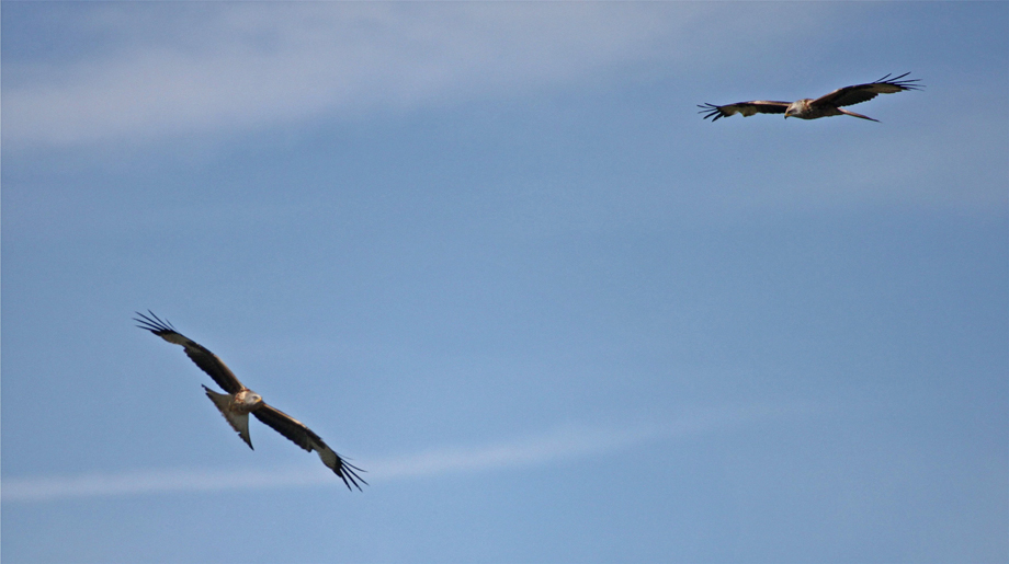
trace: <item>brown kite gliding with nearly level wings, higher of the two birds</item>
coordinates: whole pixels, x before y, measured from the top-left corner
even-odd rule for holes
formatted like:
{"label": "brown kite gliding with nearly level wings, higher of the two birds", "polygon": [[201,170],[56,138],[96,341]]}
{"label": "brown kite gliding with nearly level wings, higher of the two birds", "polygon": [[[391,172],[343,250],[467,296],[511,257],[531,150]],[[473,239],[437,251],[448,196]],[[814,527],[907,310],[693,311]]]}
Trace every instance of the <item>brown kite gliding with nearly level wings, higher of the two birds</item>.
{"label": "brown kite gliding with nearly level wings, higher of the two birds", "polygon": [[752,102],[738,102],[724,106],[704,104],[698,105],[698,107],[701,108],[698,113],[705,114],[704,119],[714,117],[712,122],[717,122],[719,117],[728,117],[733,114],[742,114],[746,117],[753,114],[784,114],[786,118],[798,117],[800,119],[817,119],[820,117],[850,115],[861,117],[862,119],[878,122],[878,119],[873,119],[869,116],[843,110],[841,106],[861,104],[862,102],[868,102],[876,97],[877,94],[895,94],[897,92],[904,92],[905,90],[921,90],[925,88],[923,84],[916,84],[916,82],[921,79],[900,80],[908,74],[910,74],[910,72],[905,72],[894,78],[889,78],[889,74],[887,74],[868,84],[839,88],[816,100],[808,97],[796,100],[795,102],[753,100]]}

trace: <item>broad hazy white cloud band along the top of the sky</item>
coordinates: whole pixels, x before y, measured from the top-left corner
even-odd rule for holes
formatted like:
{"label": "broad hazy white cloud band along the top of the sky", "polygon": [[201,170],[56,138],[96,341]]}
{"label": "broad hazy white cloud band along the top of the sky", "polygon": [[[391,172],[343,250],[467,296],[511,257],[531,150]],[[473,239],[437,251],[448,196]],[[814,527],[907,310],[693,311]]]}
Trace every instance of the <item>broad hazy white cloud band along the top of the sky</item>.
{"label": "broad hazy white cloud band along the top of the sky", "polygon": [[782,9],[752,25],[746,8],[689,3],[103,4],[64,23],[89,48],[4,58],[3,139],[236,131],[529,92],[647,58],[706,65],[715,34],[767,39],[808,22]]}

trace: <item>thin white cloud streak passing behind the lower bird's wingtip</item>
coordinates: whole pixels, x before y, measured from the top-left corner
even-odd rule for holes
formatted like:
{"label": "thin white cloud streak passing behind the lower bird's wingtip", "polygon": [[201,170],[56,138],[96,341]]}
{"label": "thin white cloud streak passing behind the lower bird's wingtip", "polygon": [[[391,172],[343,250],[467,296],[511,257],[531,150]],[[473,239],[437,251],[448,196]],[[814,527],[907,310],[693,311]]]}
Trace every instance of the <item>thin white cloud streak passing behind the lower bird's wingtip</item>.
{"label": "thin white cloud streak passing behind the lower bird's wingtip", "polygon": [[[712,433],[745,423],[801,415],[807,405],[755,405],[742,408],[695,411],[660,425],[624,428],[564,426],[551,431],[489,446],[450,447],[387,460],[367,462],[367,480],[386,481],[431,477],[460,472],[503,470],[547,464],[612,453],[637,445]],[[342,486],[330,472],[310,468],[275,470],[150,470],[118,474],[4,479],[4,503],[57,502],[81,497],[160,494],[169,492],[220,492],[293,486]]]}

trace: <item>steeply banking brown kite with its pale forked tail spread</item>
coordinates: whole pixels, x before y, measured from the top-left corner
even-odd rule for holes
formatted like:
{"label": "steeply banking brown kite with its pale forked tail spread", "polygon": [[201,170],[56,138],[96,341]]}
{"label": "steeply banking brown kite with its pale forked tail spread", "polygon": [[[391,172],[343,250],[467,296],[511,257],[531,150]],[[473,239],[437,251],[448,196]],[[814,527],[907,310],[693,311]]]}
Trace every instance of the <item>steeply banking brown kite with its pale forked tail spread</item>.
{"label": "steeply banking brown kite with its pale forked tail spread", "polygon": [[354,472],[364,472],[363,470],[340,458],[340,454],[327,447],[326,442],[305,424],[265,403],[262,396],[238,381],[238,378],[214,353],[175,331],[171,323],[161,321],[150,310],[147,312],[150,313],[149,318],[140,312],[137,312],[137,315],[140,316],[139,319],[134,318],[134,321],[139,323],[138,327],[150,331],[169,343],[182,345],[185,348],[185,355],[193,362],[196,362],[196,366],[204,372],[209,375],[217,382],[217,385],[228,392],[217,393],[206,385],[203,387],[206,391],[206,396],[214,402],[224,418],[231,425],[231,428],[238,431],[238,436],[249,445],[249,448],[252,448],[252,439],[249,437],[249,414],[251,413],[257,419],[273,427],[274,430],[291,439],[295,445],[309,452],[313,450],[318,452],[322,463],[343,480],[348,490],[353,491],[351,488],[351,484],[353,484],[360,491],[361,486],[358,482],[367,485],[367,482]]}

